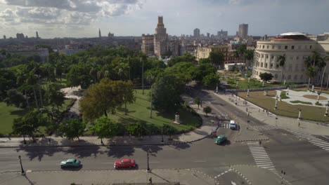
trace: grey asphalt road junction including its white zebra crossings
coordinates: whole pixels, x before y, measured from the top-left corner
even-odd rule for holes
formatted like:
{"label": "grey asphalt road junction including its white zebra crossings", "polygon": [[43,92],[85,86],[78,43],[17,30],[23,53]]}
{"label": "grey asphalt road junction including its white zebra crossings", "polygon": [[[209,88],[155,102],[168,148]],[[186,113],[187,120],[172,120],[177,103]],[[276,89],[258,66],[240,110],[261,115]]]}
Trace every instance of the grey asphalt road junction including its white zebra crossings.
{"label": "grey asphalt road junction including its white zebra crossings", "polygon": [[[204,90],[194,95],[202,97],[203,107],[211,106],[214,115],[224,114],[238,121],[243,127],[249,125],[248,132],[244,132],[247,133],[244,136],[247,139],[244,142],[236,142],[235,139],[244,133],[220,126],[218,133],[228,135],[230,141],[223,146],[217,146],[214,144],[213,137],[207,137],[198,142],[165,146],[96,145],[0,148],[0,177],[2,177],[0,179],[7,179],[0,181],[0,184],[13,182],[8,181],[7,177],[11,174],[8,172],[19,173],[19,155],[22,156],[25,170],[28,170],[27,176],[37,172],[51,172],[54,177],[57,177],[56,175],[62,171],[59,167],[60,160],[65,158],[82,160],[83,166],[78,169],[79,172],[111,170],[109,174],[113,173],[113,163],[117,158],[134,158],[138,163],[138,168],[134,170],[144,172],[147,166],[147,151],[150,151],[151,154],[150,167],[152,170],[167,170],[167,174],[174,173],[175,169],[187,170],[184,171],[186,174],[191,172],[195,175],[199,174],[200,179],[207,179],[202,182],[203,184],[259,184],[266,179],[268,179],[266,184],[280,184],[281,170],[286,172],[283,177],[287,180],[284,181],[286,184],[328,183],[329,139],[326,137],[284,130],[275,125],[264,124],[256,118],[247,116],[243,110],[234,107],[234,104],[221,100],[220,97],[209,91]],[[250,131],[252,129],[254,131]],[[257,133],[257,135],[248,136],[249,132]],[[260,146],[257,140],[252,141],[254,138],[264,137],[268,139],[262,140]],[[132,170],[122,173],[132,173]],[[262,173],[262,176],[259,176],[259,173]],[[87,176],[88,174],[86,174]],[[83,175],[80,176],[82,179],[83,177]],[[177,180],[170,179],[170,177],[174,177],[174,174],[166,177],[167,181]],[[35,181],[41,181],[35,175],[33,178]],[[158,182],[161,182],[161,178],[155,177],[155,179],[159,179]],[[183,182],[183,179],[179,180]],[[162,179],[162,181],[164,180]],[[193,181],[185,181],[185,183],[193,184]]]}

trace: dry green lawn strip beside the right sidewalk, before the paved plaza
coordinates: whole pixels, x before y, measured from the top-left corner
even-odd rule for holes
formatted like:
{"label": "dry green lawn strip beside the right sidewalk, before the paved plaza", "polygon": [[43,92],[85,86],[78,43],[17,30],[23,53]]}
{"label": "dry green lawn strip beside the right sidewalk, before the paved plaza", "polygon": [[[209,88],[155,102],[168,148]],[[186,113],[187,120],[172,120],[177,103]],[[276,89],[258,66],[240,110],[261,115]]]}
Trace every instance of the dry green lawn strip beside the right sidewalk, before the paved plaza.
{"label": "dry green lawn strip beside the right sidewalk, before the paved plaza", "polygon": [[[273,90],[270,90],[269,93],[273,93]],[[247,93],[238,93],[238,96],[243,97],[247,101],[257,104],[259,107],[267,109],[273,114],[280,116],[287,116],[292,118],[298,117],[299,109],[302,109],[302,118],[311,121],[321,121],[328,122],[329,116],[324,116],[325,107],[317,106],[308,106],[302,104],[288,104],[286,102],[278,102],[278,109],[274,109],[274,104],[276,100],[271,96],[263,95],[263,92],[250,92],[249,97]]]}

